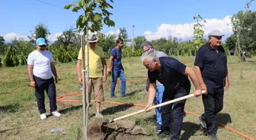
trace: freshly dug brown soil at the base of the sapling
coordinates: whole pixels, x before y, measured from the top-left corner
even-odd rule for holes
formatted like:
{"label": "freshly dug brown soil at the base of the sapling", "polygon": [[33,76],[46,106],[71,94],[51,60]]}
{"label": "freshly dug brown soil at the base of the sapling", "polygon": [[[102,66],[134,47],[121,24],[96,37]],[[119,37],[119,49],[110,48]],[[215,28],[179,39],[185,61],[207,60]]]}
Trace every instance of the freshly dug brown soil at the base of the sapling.
{"label": "freshly dug brown soil at the base of the sapling", "polygon": [[88,126],[90,140],[148,140],[150,135],[132,121],[117,121],[102,126],[104,121],[94,120]]}

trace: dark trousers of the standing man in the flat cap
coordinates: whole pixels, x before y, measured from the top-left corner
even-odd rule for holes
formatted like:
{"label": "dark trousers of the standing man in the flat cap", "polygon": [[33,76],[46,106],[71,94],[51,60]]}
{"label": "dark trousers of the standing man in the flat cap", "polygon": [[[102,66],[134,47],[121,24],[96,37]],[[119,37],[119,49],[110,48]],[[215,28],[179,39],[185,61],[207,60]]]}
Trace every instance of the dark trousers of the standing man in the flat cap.
{"label": "dark trousers of the standing man in the flat cap", "polygon": [[207,133],[216,134],[216,114],[223,108],[224,89],[213,89],[207,87],[207,95],[203,95],[204,114],[202,120],[206,122]]}

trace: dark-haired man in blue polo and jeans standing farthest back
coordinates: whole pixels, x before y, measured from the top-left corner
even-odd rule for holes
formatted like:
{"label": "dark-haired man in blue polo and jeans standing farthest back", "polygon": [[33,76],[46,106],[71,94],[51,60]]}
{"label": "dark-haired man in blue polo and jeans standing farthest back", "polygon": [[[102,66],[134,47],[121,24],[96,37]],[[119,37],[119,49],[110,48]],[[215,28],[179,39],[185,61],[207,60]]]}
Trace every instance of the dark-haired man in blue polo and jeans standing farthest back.
{"label": "dark-haired man in blue polo and jeans standing farthest back", "polygon": [[[117,46],[112,48],[110,54],[110,68],[108,70],[108,74],[112,73],[112,82],[110,89],[110,98],[115,98],[114,91],[117,85],[117,78],[119,77],[121,80],[121,94],[123,98],[128,98],[126,95],[126,76],[123,72],[122,65],[122,47],[123,47],[123,39],[117,39]],[[113,65],[113,67],[112,67]]]}

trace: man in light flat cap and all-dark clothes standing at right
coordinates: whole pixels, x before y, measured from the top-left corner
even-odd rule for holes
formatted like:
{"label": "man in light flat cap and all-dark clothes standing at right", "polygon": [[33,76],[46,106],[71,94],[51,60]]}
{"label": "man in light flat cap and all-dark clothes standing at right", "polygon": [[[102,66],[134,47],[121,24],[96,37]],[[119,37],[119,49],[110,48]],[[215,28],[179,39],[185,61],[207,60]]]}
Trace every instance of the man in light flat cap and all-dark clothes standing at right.
{"label": "man in light flat cap and all-dark clothes standing at right", "polygon": [[200,87],[207,95],[203,95],[204,114],[198,119],[207,130],[211,140],[217,140],[216,114],[222,110],[224,89],[229,88],[227,58],[221,43],[223,34],[219,30],[209,33],[209,41],[197,51],[194,71],[200,81]]}

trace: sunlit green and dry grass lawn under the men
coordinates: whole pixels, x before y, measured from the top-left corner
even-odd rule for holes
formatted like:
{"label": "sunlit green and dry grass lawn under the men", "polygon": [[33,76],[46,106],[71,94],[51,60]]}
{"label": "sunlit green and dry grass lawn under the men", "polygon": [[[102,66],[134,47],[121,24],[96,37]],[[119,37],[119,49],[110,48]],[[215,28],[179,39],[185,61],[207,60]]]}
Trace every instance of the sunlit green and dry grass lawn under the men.
{"label": "sunlit green and dry grass lawn under the men", "polygon": [[[181,57],[181,61],[192,67],[193,57]],[[108,60],[107,60],[108,62]],[[124,58],[123,67],[126,75],[126,92],[130,98],[120,98],[120,86],[116,88],[118,98],[109,98],[109,89],[104,90],[106,101],[117,101],[123,103],[146,104],[147,93],[145,81],[133,82],[134,80],[146,78],[146,68],[142,66],[139,58]],[[229,80],[230,88],[225,92],[224,107],[218,114],[217,121],[232,129],[238,130],[245,135],[256,138],[256,63],[244,62],[242,64],[242,79],[240,79],[240,68],[238,59],[229,57]],[[56,84],[57,95],[79,92],[80,86],[77,82],[75,64],[56,64],[59,83]],[[30,88],[27,78],[26,67],[1,67],[0,68],[0,139],[61,139],[75,140],[82,139],[82,103],[58,102],[58,109],[62,113],[59,118],[47,117],[40,120],[37,110],[37,102],[34,91]],[[104,87],[110,86],[110,76],[107,77]],[[120,80],[119,80],[120,81]],[[191,92],[194,87],[192,86]],[[92,97],[93,98],[93,97]],[[82,99],[82,95],[70,96],[62,99]],[[104,120],[121,117],[125,114],[141,110],[142,107],[131,107],[117,104],[104,103],[102,114]],[[94,104],[90,107],[90,122],[95,120]],[[189,98],[185,110],[201,114],[203,103],[201,98]],[[49,100],[46,97],[46,113],[49,114]],[[130,134],[120,132],[122,139],[158,139],[155,132],[155,110],[150,113],[142,113],[112,123],[110,126],[122,126],[124,129],[133,129]],[[208,139],[200,129],[197,117],[187,114],[184,117],[184,125],[181,131],[181,139]],[[134,128],[133,128],[134,127]],[[62,128],[64,132],[50,133],[50,129]],[[136,135],[136,132],[140,132]],[[117,136],[118,136],[117,135]],[[123,137],[121,137],[123,135]],[[235,132],[230,132],[219,126],[219,139],[245,139]],[[117,139],[119,139],[117,138]],[[106,138],[107,139],[107,138]],[[108,137],[110,139],[110,137]]]}

